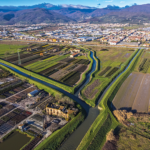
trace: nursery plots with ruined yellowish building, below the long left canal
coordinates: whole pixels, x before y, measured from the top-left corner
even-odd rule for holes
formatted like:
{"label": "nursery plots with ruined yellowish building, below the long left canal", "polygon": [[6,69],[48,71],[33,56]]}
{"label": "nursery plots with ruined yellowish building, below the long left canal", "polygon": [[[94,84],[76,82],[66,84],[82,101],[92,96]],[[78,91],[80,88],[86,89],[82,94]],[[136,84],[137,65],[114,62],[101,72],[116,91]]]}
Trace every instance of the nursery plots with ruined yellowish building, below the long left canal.
{"label": "nursery plots with ruined yellowish building, below the long left canal", "polygon": [[[49,114],[49,109],[61,115]],[[33,149],[78,112],[78,104],[69,97],[54,97],[0,66],[0,149]]]}

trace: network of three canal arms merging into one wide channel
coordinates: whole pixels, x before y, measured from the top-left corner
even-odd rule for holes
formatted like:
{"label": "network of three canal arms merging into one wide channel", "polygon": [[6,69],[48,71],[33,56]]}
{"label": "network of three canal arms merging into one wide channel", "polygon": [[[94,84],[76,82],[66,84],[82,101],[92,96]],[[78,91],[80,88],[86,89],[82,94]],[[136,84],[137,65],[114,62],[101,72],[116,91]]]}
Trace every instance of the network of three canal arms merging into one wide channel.
{"label": "network of three canal arms merging into one wide channel", "polygon": [[[92,125],[92,123],[94,122],[94,120],[97,118],[97,116],[99,115],[100,111],[98,110],[97,107],[95,108],[91,108],[88,104],[86,104],[84,101],[82,101],[80,98],[78,98],[78,94],[80,93],[80,91],[83,89],[83,87],[88,84],[88,82],[90,81],[90,75],[95,71],[96,69],[96,60],[93,58],[93,52],[91,51],[91,58],[93,59],[93,65],[92,65],[92,69],[91,71],[87,74],[86,76],[86,80],[85,82],[80,86],[79,90],[75,93],[75,95],[70,94],[68,92],[66,92],[65,90],[52,85],[50,83],[47,83],[45,81],[42,81],[40,79],[34,78],[28,74],[25,74],[11,66],[8,66],[6,64],[0,63],[8,68],[10,68],[11,70],[17,72],[20,75],[23,75],[27,78],[30,78],[34,81],[40,82],[46,86],[49,86],[67,96],[69,96],[70,98],[72,98],[73,100],[75,100],[77,103],[79,103],[87,112],[87,117],[84,120],[84,122],[76,129],[76,131],[64,142],[64,144],[60,147],[60,150],[75,150],[78,145],[80,144],[81,140],[83,139],[84,135],[86,134],[86,132],[89,130],[90,126]],[[137,55],[137,54],[136,54]],[[135,56],[134,56],[135,57]],[[133,58],[134,59],[134,58]],[[132,59],[132,60],[133,60]],[[131,64],[132,60],[130,61],[129,65]],[[126,69],[129,67],[129,65],[126,67]],[[122,73],[120,73],[116,79],[121,75]],[[115,79],[115,80],[116,80]],[[114,81],[115,81],[114,80]],[[109,89],[109,87],[114,83],[114,81],[112,81],[112,83],[106,88],[106,90],[104,91],[103,95],[100,97],[98,103],[101,101],[101,99],[103,98],[104,94],[106,93],[106,91]]]}

